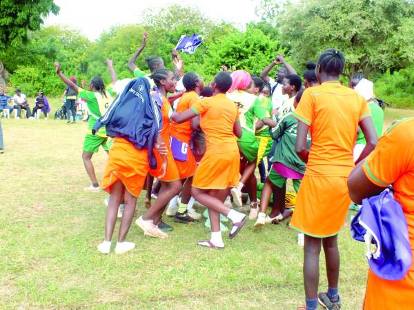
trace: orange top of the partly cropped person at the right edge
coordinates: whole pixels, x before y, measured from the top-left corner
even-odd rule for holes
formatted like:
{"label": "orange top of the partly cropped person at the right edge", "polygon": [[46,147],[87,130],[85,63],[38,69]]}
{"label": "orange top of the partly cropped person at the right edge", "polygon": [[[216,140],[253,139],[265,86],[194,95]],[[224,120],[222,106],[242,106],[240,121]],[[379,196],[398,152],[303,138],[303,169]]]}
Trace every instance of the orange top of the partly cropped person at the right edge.
{"label": "orange top of the partly cropped person at the right edge", "polygon": [[[362,168],[378,186],[393,185],[394,197],[407,219],[411,249],[414,249],[414,118],[404,118],[380,138]],[[410,270],[414,270],[414,264]]]}

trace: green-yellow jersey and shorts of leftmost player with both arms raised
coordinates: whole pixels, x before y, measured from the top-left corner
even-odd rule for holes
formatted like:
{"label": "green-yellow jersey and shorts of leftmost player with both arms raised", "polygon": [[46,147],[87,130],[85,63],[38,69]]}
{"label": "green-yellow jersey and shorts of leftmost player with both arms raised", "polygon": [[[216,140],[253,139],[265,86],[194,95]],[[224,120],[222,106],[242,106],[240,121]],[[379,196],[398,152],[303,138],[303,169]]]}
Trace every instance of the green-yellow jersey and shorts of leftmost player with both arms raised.
{"label": "green-yellow jersey and shorts of leftmost player with both arms raised", "polygon": [[92,135],[92,128],[97,120],[106,113],[106,110],[108,110],[109,105],[112,103],[112,87],[112,84],[107,87],[106,96],[102,96],[99,92],[90,92],[79,87],[78,96],[86,100],[90,112],[88,133],[83,142],[83,151],[85,152],[96,153],[98,152],[99,145],[102,145],[106,151],[109,149],[105,127],[99,128],[95,136]]}

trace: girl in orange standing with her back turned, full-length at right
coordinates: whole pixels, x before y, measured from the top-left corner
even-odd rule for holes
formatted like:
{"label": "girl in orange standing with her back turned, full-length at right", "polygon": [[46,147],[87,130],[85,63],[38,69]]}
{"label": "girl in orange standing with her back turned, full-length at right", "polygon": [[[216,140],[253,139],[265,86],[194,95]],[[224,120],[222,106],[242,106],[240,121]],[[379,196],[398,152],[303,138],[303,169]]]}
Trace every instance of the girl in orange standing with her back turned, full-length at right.
{"label": "girl in orange standing with her back turned, full-length at right", "polygon": [[[339,50],[322,52],[316,68],[321,85],[308,87],[292,113],[299,121],[295,152],[306,163],[306,173],[290,226],[305,234],[304,286],[308,310],[317,308],[318,298],[325,308],[341,307],[337,234],[344,225],[351,203],[346,180],[354,167],[353,146],[358,125],[367,142],[358,161],[377,144],[377,133],[366,100],[338,81],[344,66],[345,57]],[[309,131],[312,137],[310,150],[306,148]],[[328,292],[318,295],[321,245],[326,258]]]}

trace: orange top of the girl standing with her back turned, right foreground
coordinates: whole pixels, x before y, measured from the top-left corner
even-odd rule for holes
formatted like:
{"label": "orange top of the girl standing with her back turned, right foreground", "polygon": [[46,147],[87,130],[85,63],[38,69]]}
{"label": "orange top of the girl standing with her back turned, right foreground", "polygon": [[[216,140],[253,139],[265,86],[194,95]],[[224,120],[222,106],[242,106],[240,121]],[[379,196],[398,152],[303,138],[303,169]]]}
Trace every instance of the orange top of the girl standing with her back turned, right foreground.
{"label": "orange top of the girl standing with her back turned, right foreground", "polygon": [[306,175],[349,176],[359,121],[371,116],[366,100],[338,81],[324,82],[304,91],[297,120],[310,126],[312,137]]}

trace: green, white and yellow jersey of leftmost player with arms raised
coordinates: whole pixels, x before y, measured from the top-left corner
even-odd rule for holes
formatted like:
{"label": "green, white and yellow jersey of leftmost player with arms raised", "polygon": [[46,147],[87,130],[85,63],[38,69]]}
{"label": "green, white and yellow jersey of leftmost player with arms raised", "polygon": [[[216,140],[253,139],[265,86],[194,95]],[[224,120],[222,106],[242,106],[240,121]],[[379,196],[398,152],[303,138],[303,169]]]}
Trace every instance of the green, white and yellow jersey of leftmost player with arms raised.
{"label": "green, white and yellow jersey of leftmost player with arms raised", "polygon": [[[106,110],[108,110],[109,105],[112,103],[112,86],[113,85],[110,84],[106,88],[106,96],[102,96],[99,92],[90,92],[89,90],[83,90],[83,88],[79,87],[78,96],[79,98],[86,100],[90,112],[88,134],[92,134],[93,125],[95,125],[97,120],[106,113]],[[99,128],[97,135],[106,137],[105,127]]]}

